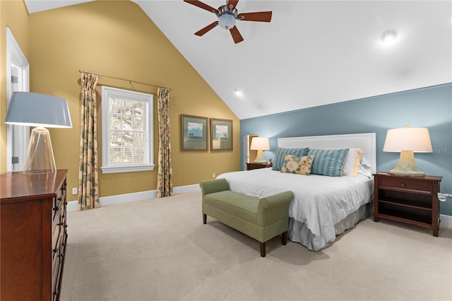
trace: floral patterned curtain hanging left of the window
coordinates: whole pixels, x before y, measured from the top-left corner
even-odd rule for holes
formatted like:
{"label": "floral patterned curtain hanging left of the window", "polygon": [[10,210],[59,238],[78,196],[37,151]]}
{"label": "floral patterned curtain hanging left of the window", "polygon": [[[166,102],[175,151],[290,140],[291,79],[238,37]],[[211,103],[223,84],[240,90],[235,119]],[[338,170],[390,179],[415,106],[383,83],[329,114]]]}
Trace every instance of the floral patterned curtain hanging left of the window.
{"label": "floral patterned curtain hanging left of the window", "polygon": [[97,173],[97,105],[95,91],[98,80],[99,76],[95,74],[82,73],[80,159],[78,163],[78,211],[99,207]]}

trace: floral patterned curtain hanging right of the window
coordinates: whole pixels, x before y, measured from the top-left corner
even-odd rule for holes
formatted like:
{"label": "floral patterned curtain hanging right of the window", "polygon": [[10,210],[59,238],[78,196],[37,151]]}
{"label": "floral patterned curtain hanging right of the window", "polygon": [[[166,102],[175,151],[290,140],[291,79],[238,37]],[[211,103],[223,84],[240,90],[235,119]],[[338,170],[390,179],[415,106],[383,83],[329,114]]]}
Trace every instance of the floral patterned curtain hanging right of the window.
{"label": "floral patterned curtain hanging right of the window", "polygon": [[169,141],[169,89],[157,89],[158,171],[157,198],[172,195],[171,142]]}

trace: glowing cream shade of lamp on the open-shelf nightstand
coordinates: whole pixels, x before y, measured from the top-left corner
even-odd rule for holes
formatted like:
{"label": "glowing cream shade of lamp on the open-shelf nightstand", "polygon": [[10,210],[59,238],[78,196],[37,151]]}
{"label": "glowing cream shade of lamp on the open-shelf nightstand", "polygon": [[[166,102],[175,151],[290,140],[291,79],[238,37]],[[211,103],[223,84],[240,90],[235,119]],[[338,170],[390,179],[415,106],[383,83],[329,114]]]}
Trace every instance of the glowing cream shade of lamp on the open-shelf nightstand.
{"label": "glowing cream shade of lamp on the open-shelf nightstand", "polygon": [[403,129],[388,129],[383,151],[400,152],[412,151],[413,153],[432,153],[427,128],[405,127]]}

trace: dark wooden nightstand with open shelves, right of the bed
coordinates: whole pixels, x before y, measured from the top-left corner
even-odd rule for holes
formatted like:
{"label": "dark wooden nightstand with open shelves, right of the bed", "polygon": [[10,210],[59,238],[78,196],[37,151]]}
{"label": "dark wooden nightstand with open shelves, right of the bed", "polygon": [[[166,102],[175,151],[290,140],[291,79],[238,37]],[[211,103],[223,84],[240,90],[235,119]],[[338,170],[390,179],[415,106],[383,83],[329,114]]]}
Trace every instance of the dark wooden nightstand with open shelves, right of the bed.
{"label": "dark wooden nightstand with open shelves, right of the bed", "polygon": [[439,183],[442,177],[403,177],[386,172],[374,174],[374,221],[395,220],[439,230]]}

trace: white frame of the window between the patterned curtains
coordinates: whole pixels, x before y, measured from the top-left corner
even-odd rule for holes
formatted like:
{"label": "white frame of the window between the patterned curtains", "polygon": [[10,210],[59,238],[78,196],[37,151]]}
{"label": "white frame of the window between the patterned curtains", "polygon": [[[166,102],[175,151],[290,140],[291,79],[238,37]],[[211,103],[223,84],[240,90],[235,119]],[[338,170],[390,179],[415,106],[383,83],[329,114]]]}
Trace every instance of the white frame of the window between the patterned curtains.
{"label": "white frame of the window between the patterned curtains", "polygon": [[[109,124],[109,98],[124,98],[128,100],[135,100],[146,102],[148,110],[145,113],[147,123],[145,129],[148,131],[146,143],[148,158],[146,162],[140,164],[109,164],[109,147],[110,147],[110,124]],[[147,93],[140,93],[131,90],[123,90],[118,88],[102,86],[102,173],[114,172],[138,172],[143,170],[154,170],[154,132],[153,132],[153,107],[154,95]]]}

